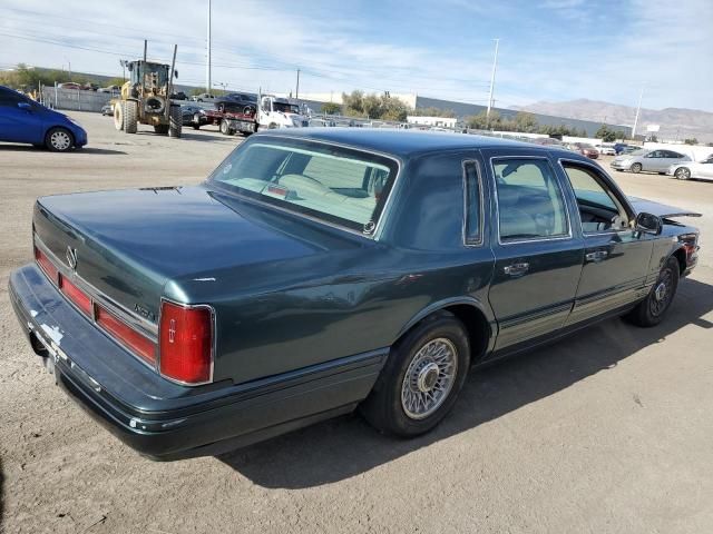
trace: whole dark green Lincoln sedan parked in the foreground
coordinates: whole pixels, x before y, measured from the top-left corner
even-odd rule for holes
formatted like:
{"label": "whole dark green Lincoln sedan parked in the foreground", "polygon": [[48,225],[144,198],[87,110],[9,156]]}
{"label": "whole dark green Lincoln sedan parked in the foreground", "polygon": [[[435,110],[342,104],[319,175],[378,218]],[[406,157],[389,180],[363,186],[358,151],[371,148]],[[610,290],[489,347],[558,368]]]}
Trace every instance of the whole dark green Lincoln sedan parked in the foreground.
{"label": "whole dark green Lincoln sedan parked in the foreground", "polygon": [[473,367],[658,324],[697,260],[686,215],[556,148],[271,130],[196,187],[38,199],[10,298],[56,382],[149,457],[354,409],[414,436]]}

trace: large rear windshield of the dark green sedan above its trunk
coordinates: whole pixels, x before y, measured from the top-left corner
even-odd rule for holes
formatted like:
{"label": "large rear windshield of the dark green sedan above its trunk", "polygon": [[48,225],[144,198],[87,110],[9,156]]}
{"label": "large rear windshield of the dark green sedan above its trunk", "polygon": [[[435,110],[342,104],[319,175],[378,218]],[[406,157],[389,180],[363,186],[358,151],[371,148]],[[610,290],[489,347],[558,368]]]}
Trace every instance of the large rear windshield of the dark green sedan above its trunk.
{"label": "large rear windshield of the dark green sedan above its trunk", "polygon": [[324,144],[255,137],[235,149],[209,184],[371,234],[395,178],[395,160]]}

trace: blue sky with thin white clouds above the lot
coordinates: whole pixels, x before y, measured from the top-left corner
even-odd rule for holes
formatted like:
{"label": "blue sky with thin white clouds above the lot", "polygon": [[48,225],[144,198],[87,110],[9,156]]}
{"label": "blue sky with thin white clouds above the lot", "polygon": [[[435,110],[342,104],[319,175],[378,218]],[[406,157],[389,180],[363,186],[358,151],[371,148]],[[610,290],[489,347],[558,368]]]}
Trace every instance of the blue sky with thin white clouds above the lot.
{"label": "blue sky with thin white clouds above the lot", "polygon": [[[205,83],[206,0],[4,0],[0,68],[17,62],[120,75],[120,57],[168,59]],[[137,16],[140,13],[140,16]],[[713,111],[712,0],[213,0],[213,81],[232,89],[362,89],[509,107],[588,98]],[[71,48],[81,47],[82,49]],[[89,50],[85,50],[89,49]]]}

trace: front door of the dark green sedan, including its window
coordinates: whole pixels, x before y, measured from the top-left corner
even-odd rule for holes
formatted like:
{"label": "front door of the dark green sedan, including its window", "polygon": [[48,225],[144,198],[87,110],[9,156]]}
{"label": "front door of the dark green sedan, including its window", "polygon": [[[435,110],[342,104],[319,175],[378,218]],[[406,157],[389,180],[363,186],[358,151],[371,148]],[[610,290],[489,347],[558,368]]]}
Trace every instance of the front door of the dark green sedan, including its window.
{"label": "front door of the dark green sedan, including its window", "polygon": [[635,212],[595,165],[560,160],[579,211],[584,266],[567,326],[614,313],[646,295],[654,238],[634,231]]}

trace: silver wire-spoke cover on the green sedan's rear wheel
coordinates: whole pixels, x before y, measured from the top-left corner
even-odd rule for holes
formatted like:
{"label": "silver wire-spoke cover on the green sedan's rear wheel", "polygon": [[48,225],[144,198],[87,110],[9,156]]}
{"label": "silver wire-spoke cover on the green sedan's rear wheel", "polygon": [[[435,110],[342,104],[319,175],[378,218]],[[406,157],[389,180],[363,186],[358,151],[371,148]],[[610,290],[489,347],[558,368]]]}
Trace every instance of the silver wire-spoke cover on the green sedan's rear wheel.
{"label": "silver wire-spoke cover on the green sedan's rear wheel", "polygon": [[458,350],[445,337],[426,343],[413,356],[401,384],[401,407],[412,419],[432,415],[448,398],[458,374]]}

